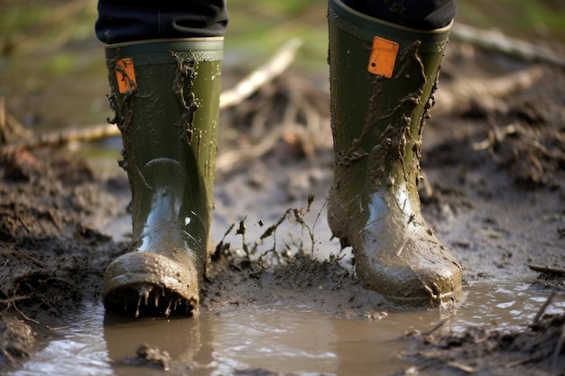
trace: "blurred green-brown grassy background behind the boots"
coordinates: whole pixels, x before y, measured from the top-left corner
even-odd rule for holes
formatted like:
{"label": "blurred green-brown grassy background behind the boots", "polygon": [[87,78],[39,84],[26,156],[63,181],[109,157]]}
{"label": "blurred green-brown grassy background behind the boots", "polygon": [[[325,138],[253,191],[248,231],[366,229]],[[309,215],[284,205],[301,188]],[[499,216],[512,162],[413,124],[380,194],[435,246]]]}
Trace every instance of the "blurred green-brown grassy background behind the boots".
{"label": "blurred green-brown grassy background behind the boots", "polygon": [[[304,44],[292,71],[327,77],[326,0],[227,3],[225,86],[294,36]],[[103,124],[111,115],[104,48],[93,30],[96,18],[96,0],[0,0],[0,97],[25,127],[44,131]],[[457,22],[537,45],[562,45],[565,2],[459,0]]]}

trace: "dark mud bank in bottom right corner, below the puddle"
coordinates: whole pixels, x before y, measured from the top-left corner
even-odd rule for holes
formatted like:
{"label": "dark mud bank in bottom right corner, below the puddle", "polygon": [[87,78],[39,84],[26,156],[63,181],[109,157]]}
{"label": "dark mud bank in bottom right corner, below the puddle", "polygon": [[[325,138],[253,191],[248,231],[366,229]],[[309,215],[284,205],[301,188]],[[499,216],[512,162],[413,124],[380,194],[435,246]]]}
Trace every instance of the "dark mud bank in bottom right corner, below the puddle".
{"label": "dark mud bank in bottom right corner, below the puddle", "polygon": [[[543,315],[523,330],[468,327],[462,333],[415,333],[418,350],[405,356],[418,363],[406,374],[563,374],[565,315]],[[520,370],[520,371],[517,371]]]}

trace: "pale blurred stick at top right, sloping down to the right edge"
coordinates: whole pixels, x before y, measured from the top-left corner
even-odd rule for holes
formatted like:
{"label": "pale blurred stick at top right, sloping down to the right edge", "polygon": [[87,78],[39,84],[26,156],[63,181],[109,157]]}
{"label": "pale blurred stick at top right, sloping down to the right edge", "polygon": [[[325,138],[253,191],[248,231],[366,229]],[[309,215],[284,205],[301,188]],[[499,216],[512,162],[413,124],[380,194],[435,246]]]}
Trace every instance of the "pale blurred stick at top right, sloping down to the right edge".
{"label": "pale blurred stick at top right, sloping down to the right edge", "polygon": [[458,41],[466,41],[489,50],[498,50],[526,61],[538,61],[560,68],[565,67],[565,57],[555,51],[527,41],[509,38],[501,32],[479,30],[472,26],[455,23],[450,35]]}

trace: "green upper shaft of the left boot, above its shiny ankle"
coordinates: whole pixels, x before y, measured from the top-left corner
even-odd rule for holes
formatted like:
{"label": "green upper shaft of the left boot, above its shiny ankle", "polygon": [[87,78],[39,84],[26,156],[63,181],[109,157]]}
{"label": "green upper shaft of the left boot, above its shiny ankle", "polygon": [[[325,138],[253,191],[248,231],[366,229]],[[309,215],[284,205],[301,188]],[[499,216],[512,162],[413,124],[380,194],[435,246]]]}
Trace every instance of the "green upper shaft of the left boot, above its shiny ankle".
{"label": "green upper shaft of the left boot, above its shiny ankle", "polygon": [[120,43],[106,54],[110,104],[124,142],[120,164],[133,194],[135,185],[144,186],[139,170],[171,159],[193,178],[193,192],[204,185],[202,201],[211,210],[223,38]]}

